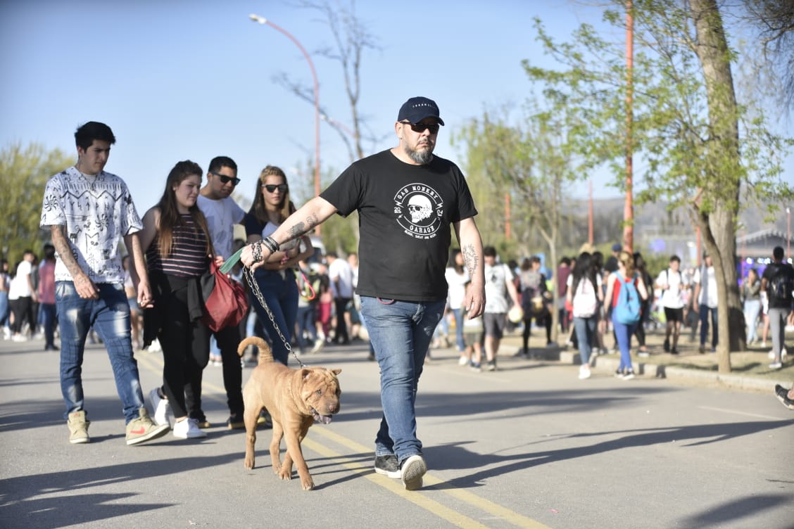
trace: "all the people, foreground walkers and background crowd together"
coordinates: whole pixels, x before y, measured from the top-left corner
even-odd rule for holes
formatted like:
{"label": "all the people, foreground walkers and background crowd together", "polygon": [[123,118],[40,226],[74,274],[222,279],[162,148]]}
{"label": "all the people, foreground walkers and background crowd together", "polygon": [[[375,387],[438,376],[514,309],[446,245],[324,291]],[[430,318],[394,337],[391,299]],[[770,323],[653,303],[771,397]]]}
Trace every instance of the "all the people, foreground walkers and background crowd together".
{"label": "all the people, foreground walkers and background crowd together", "polygon": [[[443,125],[435,102],[410,98],[395,122],[397,146],[353,163],[300,208],[279,167],[260,172],[245,212],[232,197],[241,182],[233,159],[215,157],[206,173],[191,160],[179,161],[164,178],[160,201],[142,218],[125,182],[104,171],[115,143],[110,127],[96,121],[79,127],[78,162],[50,178],[44,190],[40,225],[49,230],[52,244],[44,247],[40,263],[33,251],[25,251],[13,274],[3,263],[0,281],[0,324],[7,338],[23,341],[40,328],[45,350],[57,351],[56,326],[60,332],[69,442],[91,441],[82,384],[91,333],[110,357],[128,445],[168,431],[179,439],[206,436],[210,422],[202,409],[202,373],[210,359],[223,366],[226,426],[245,427],[237,354],[243,334],[268,339],[273,358],[285,365],[293,345],[314,353],[364,335],[370,358],[380,366],[383,414],[374,470],[401,479],[409,490],[422,487],[427,470],[414,403],[431,341],[445,328],[442,321],[456,329],[461,365],[476,370],[497,370],[503,335],[516,325],[523,326],[524,355],[530,355],[533,322],[545,328],[546,344],[553,345],[556,312],[561,332],[580,349],[580,378],[590,376],[589,359],[593,351],[605,350],[611,332],[621,354],[616,375],[628,380],[634,377],[630,340],[637,336],[640,351],[647,353],[643,321],[656,301],[667,322],[665,350],[677,353],[682,324],[693,312],[700,319],[700,352],[706,348],[709,316],[715,347],[717,291],[708,258],[694,274],[684,274],[673,256],[655,279],[641,255],[619,246],[605,262],[598,251],[583,249],[548,275],[538,257],[523,259],[520,266],[502,263],[495,247],[483,246],[460,169],[433,154]],[[360,218],[360,248],[366,250],[360,262],[356,253],[344,259],[333,251],[314,255],[310,230],[333,214],[353,211]],[[236,224],[245,228],[245,241],[235,240]],[[460,248],[450,253],[453,231]],[[202,317],[201,278],[237,250],[241,259],[231,276],[248,287],[242,270],[252,270],[252,309],[240,324],[212,330]],[[775,258],[788,274],[791,266],[781,262],[782,255],[778,259],[777,249]],[[776,266],[760,281],[757,274],[753,280],[748,276],[743,292],[749,315],[761,312],[754,301],[780,288],[770,271]],[[781,329],[790,307],[766,299],[773,360],[780,366]],[[152,351],[155,343],[164,368],[162,383],[148,391],[150,415],[133,351]],[[786,404],[790,394],[778,392],[778,397]]]}

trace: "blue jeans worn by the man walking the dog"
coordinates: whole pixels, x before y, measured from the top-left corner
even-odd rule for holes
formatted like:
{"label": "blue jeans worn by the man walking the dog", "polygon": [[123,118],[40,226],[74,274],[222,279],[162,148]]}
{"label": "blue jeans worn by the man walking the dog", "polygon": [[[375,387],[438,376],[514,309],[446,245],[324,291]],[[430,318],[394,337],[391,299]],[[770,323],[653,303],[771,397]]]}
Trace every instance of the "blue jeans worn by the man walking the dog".
{"label": "blue jeans worn by the man walking the dog", "polygon": [[446,301],[395,301],[361,297],[361,314],[380,366],[384,408],[375,455],[395,454],[400,462],[422,454],[416,437],[416,390],[433,332]]}

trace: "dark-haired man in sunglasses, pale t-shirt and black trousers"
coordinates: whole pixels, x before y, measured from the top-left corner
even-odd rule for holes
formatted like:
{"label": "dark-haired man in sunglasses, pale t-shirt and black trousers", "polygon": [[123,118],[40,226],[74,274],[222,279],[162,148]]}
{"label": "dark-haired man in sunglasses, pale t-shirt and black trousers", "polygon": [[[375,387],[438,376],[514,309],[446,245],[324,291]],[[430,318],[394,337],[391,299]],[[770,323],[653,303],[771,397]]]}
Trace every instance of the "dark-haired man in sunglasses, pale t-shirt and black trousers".
{"label": "dark-haired man in sunglasses, pale t-shirt and black trousers", "polygon": [[[228,259],[233,252],[234,224],[241,224],[243,211],[232,197],[240,178],[237,178],[237,163],[229,156],[216,156],[210,162],[206,173],[206,184],[198,194],[198,209],[206,217],[210,229],[215,260],[218,266]],[[242,367],[237,346],[240,345],[240,328],[235,326],[222,328],[214,333],[215,341],[221,350],[223,361],[223,385],[226,389],[226,403],[229,405],[229,429],[245,428],[243,423]],[[187,395],[187,408],[192,419],[198,419],[200,427],[210,424],[200,406],[200,395],[195,399]],[[198,401],[198,403],[196,402]],[[197,405],[199,404],[199,405]]]}

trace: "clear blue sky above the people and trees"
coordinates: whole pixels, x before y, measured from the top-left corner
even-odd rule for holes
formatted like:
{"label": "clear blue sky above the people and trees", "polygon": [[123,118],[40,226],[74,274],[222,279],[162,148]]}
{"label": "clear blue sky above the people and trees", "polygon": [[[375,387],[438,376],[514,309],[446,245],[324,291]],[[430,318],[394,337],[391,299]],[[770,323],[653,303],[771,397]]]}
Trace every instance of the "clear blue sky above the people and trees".
{"label": "clear blue sky above the people and trees", "polygon": [[[249,199],[268,164],[283,167],[293,188],[310,186],[313,174],[298,167],[314,156],[314,107],[272,79],[286,73],[310,86],[309,67],[291,40],[249,13],[303,44],[321,105],[350,125],[341,68],[314,54],[333,41],[313,11],[286,2],[28,0],[0,2],[0,145],[36,141],[73,153],[75,128],[103,121],[118,140],[106,170],[125,178],[141,215],[182,159],[206,171],[215,155],[231,156],[238,193]],[[564,40],[600,20],[598,10],[563,0],[360,1],[357,15],[382,48],[361,66],[360,113],[383,138],[369,150],[393,146],[399,106],[425,95],[446,124],[437,154],[461,164],[450,132],[485,109],[518,108],[530,91],[521,60],[545,61],[531,18]],[[341,171],[349,158],[337,132],[321,124],[320,136],[323,171]],[[620,195],[604,181],[595,177],[596,197]]]}

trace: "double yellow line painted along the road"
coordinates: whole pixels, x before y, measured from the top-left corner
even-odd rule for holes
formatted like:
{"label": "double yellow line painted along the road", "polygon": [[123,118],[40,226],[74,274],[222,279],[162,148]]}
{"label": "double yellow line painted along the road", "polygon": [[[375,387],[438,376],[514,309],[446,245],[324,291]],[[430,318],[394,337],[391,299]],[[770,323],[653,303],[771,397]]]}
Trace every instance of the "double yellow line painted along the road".
{"label": "double yellow line painted along the road", "polygon": [[[160,355],[154,356],[149,355],[148,353],[142,353],[136,355],[136,358],[138,363],[142,364],[147,370],[152,371],[153,373],[163,372],[163,362]],[[212,389],[213,392],[202,394],[202,397],[210,398],[214,401],[225,404],[226,393],[225,389],[222,387],[202,381],[202,389]],[[333,443],[337,443],[342,447],[348,448],[353,452],[367,453],[372,451],[372,447],[365,447],[364,445],[353,441],[353,439],[348,439],[347,437],[339,435],[328,428],[312,428],[310,432],[312,434],[320,435],[321,437],[324,437]],[[303,446],[326,458],[333,459],[339,465],[344,466],[349,470],[353,470],[353,472],[361,474],[366,473],[364,477],[366,477],[369,481],[372,481],[372,483],[387,489],[389,492],[410,501],[412,504],[415,504],[418,507],[426,509],[426,511],[431,512],[439,518],[445,519],[457,527],[464,527],[466,529],[469,527],[472,529],[487,529],[488,527],[476,521],[476,519],[469,518],[468,516],[462,515],[460,512],[456,512],[453,509],[446,507],[436,500],[431,500],[426,495],[421,494],[421,491],[411,492],[403,489],[402,483],[400,483],[398,480],[372,473],[372,467],[370,466],[363,466],[360,463],[346,462],[349,460],[348,456],[331,450],[330,448],[326,447],[326,445],[313,441],[309,437],[303,439]],[[425,474],[424,481],[425,485],[430,486],[442,485],[445,483],[445,481],[441,481],[437,477],[433,477],[430,474]],[[457,500],[462,501],[464,504],[471,505],[474,508],[479,508],[481,511],[488,512],[492,516],[497,516],[508,523],[512,523],[515,525],[515,527],[522,527],[523,529],[550,529],[550,527],[538,522],[537,520],[520,515],[518,512],[512,511],[503,505],[495,504],[491,500],[486,500],[483,497],[469,493],[465,490],[440,488],[437,489],[437,491],[448,494],[449,496],[453,496]]]}

